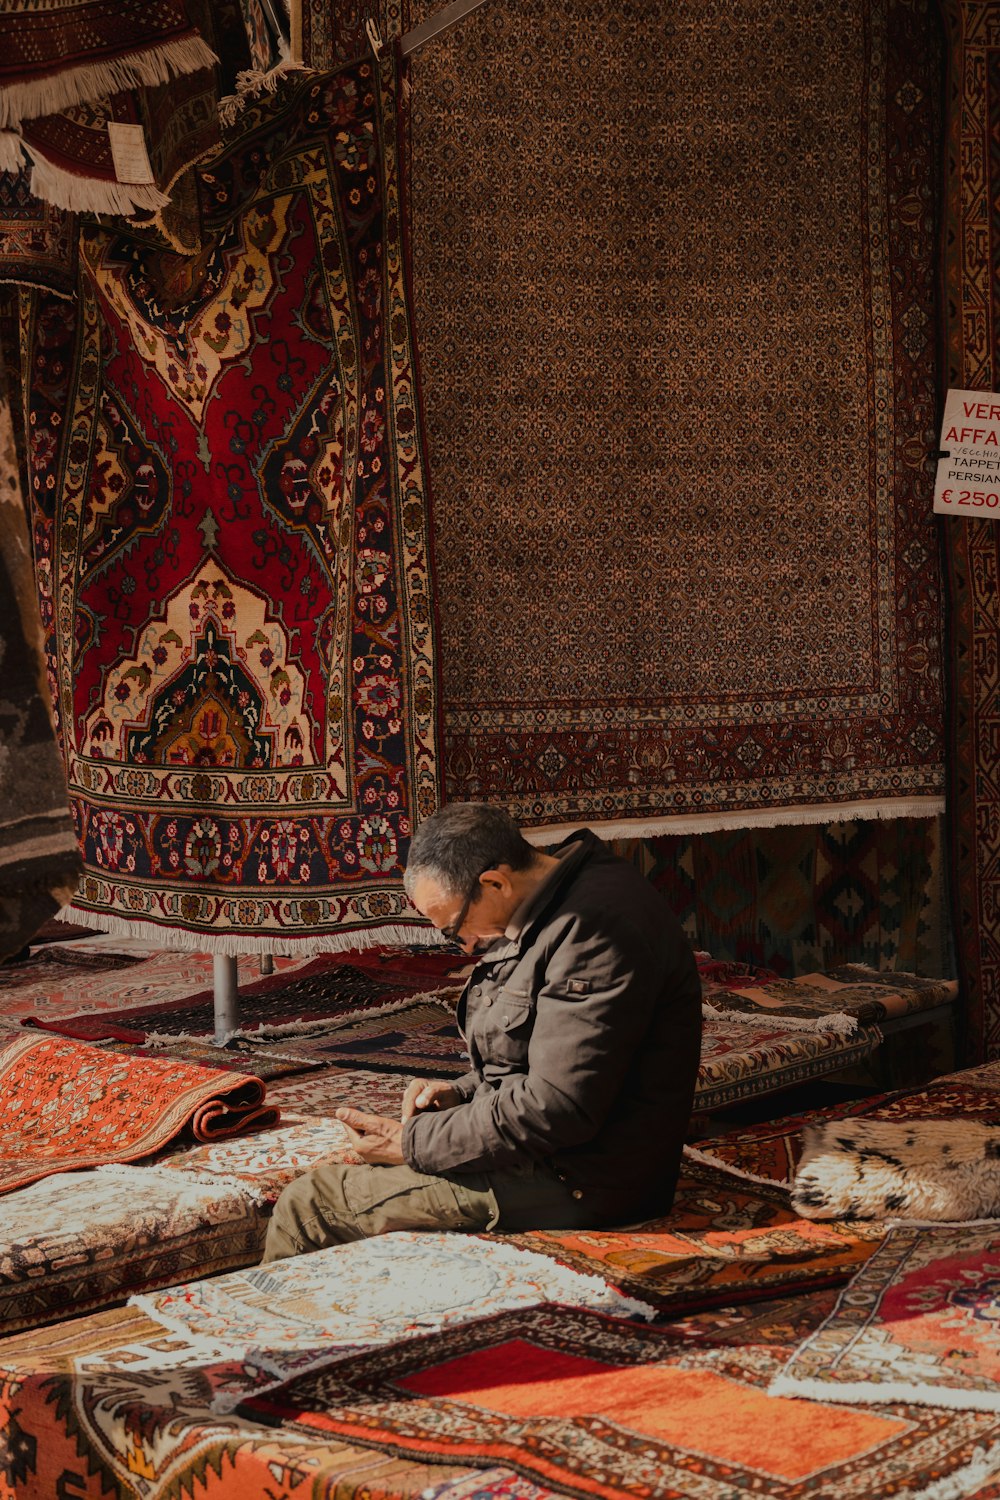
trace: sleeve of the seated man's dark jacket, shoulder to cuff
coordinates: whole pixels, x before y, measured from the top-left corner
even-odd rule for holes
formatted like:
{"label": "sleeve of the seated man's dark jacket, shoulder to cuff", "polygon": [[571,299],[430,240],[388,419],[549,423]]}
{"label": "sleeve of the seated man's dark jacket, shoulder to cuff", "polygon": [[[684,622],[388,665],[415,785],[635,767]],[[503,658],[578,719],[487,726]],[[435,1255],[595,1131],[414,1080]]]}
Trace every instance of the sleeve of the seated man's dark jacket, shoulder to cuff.
{"label": "sleeve of the seated man's dark jacket, shoulder to cuff", "polygon": [[535,996],[501,992],[513,1050],[528,1029],[528,1068],[403,1128],[417,1172],[486,1172],[544,1160],[591,1140],[663,1002],[663,956],[627,915],[568,914]]}

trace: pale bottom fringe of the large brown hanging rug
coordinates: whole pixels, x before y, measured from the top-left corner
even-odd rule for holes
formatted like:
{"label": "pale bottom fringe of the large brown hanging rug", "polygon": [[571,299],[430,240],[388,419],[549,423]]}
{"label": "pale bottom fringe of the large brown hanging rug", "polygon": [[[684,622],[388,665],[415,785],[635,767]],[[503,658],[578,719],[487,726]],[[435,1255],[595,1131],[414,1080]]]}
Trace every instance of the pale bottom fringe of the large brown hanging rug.
{"label": "pale bottom fringe of the large brown hanging rug", "polygon": [[808,807],[754,807],[717,813],[664,813],[660,818],[619,818],[604,824],[580,819],[547,828],[522,828],[532,844],[558,843],[589,828],[598,838],[652,838],[658,834],[714,834],[727,828],[778,828],[799,824],[850,824],[886,818],[940,818],[943,796],[900,796],[879,801],[816,802]]}

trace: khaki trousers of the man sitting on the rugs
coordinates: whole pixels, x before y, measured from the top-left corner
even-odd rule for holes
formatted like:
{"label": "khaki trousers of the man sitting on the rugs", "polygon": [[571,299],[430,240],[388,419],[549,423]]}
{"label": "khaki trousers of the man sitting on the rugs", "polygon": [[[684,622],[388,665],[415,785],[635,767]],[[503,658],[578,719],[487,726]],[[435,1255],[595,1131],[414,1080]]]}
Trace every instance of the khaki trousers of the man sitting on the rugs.
{"label": "khaki trousers of the man sitting on the rugs", "polygon": [[397,1228],[468,1234],[498,1226],[580,1228],[586,1215],[585,1203],[556,1173],[535,1162],[511,1172],[445,1176],[412,1167],[315,1167],[291,1182],[274,1204],[264,1260]]}

